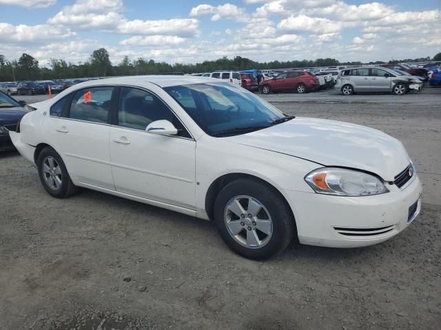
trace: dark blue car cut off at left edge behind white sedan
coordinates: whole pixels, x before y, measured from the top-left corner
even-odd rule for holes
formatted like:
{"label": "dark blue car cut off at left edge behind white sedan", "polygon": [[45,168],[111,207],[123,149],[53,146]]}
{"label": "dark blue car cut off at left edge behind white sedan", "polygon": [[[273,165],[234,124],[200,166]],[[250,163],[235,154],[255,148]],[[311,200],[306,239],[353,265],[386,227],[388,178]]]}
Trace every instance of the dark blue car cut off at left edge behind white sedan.
{"label": "dark blue car cut off at left edge behind white sedan", "polygon": [[12,146],[9,131],[15,131],[17,123],[26,111],[24,101],[17,102],[0,91],[0,147]]}

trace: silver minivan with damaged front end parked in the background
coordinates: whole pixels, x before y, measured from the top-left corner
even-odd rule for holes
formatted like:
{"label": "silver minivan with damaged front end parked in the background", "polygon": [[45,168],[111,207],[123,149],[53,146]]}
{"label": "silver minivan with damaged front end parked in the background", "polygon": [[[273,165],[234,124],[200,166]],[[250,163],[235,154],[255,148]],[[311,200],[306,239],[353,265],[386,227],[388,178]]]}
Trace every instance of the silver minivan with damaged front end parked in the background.
{"label": "silver minivan with damaged front end parked in the background", "polygon": [[400,76],[384,67],[358,67],[342,70],[334,88],[343,95],[360,92],[392,92],[403,95],[410,90],[420,90],[422,82],[411,76]]}

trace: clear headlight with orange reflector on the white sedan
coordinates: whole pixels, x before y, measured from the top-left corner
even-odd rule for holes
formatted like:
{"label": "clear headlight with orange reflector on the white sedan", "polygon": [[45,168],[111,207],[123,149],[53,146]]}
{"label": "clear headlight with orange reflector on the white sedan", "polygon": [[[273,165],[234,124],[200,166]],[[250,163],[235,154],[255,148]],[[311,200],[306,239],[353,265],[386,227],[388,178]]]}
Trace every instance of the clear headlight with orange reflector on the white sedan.
{"label": "clear headlight with orange reflector on the white sedan", "polygon": [[345,168],[318,168],[305,181],[315,192],[326,195],[369,196],[389,192],[378,177]]}

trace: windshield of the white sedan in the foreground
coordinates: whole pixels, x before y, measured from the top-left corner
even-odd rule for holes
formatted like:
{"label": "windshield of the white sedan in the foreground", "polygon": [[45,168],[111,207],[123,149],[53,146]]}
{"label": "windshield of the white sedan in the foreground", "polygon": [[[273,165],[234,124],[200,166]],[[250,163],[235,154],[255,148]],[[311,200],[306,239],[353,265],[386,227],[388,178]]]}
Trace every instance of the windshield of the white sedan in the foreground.
{"label": "windshield of the white sedan in the foreground", "polygon": [[265,129],[285,117],[249,91],[228,83],[172,86],[164,90],[181,104],[205,133],[212,136]]}

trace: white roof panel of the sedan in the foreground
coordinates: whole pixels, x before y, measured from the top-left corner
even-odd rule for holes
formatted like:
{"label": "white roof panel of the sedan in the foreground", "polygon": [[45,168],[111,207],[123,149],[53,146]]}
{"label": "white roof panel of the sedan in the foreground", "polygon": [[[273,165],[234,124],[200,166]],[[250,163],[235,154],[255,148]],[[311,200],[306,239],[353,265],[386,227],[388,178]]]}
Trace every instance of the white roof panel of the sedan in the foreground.
{"label": "white roof panel of the sedan in the foreground", "polygon": [[159,87],[170,87],[177,85],[189,85],[200,83],[219,83],[223,80],[217,78],[208,78],[202,76],[125,76],[118,78],[105,78],[99,80],[90,80],[81,83],[81,86],[94,85],[139,85],[140,83],[153,83]]}

